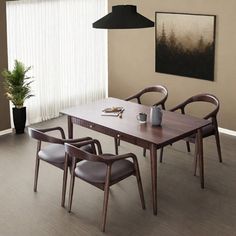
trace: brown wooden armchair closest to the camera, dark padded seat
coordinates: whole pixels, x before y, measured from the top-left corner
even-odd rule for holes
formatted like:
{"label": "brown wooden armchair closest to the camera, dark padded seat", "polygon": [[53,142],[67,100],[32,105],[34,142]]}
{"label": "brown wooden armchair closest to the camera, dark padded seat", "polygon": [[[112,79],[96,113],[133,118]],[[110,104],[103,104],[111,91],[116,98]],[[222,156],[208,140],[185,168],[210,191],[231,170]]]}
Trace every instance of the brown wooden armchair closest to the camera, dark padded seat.
{"label": "brown wooden armchair closest to the camera, dark padded seat", "polygon": [[[91,154],[79,148],[82,147],[82,145],[88,144],[92,145],[93,150],[97,150],[96,154]],[[69,156],[73,157],[68,204],[69,212],[71,212],[75,177],[78,177],[104,191],[102,213],[103,232],[105,231],[106,224],[109,188],[113,184],[116,184],[131,175],[135,175],[138,182],[138,190],[141,198],[142,208],[145,209],[139,165],[137,157],[133,153],[117,156],[112,154],[102,154],[102,148],[98,140],[84,141],[76,146],[65,144],[65,150],[67,153],[67,160]],[[126,160],[127,158],[132,158],[133,162]],[[77,159],[82,159],[82,161],[76,164]]]}

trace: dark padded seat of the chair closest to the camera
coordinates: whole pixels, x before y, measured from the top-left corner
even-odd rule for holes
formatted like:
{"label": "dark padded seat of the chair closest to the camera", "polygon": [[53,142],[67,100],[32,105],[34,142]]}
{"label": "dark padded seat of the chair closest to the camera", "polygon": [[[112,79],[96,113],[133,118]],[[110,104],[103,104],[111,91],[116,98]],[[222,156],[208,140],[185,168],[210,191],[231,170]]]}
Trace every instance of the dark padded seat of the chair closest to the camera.
{"label": "dark padded seat of the chair closest to the camera", "polygon": [[[106,155],[107,156],[107,155]],[[90,182],[104,184],[107,165],[103,162],[92,162],[83,160],[75,168],[77,177]],[[134,173],[134,164],[128,160],[119,160],[112,164],[111,182],[122,179]]]}

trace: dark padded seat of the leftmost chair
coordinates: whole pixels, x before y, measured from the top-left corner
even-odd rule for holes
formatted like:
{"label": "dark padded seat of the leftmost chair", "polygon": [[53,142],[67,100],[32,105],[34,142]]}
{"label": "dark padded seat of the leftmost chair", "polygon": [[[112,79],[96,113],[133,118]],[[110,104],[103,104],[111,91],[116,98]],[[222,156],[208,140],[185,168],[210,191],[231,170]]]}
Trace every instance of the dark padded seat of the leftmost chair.
{"label": "dark padded seat of the leftmost chair", "polygon": [[[83,146],[81,149],[92,153],[90,145]],[[43,147],[38,156],[40,159],[49,162],[61,169],[64,169],[65,147],[62,144],[49,144]]]}

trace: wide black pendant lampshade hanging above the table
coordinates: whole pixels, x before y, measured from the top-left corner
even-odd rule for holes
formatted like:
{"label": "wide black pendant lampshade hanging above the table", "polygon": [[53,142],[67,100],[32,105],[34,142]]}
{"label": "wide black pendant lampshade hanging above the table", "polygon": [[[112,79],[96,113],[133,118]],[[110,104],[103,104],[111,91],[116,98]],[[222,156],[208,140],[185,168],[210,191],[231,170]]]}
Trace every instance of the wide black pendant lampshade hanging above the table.
{"label": "wide black pendant lampshade hanging above the table", "polygon": [[133,5],[117,5],[112,12],[93,23],[93,28],[100,29],[135,29],[153,27],[154,22],[137,13]]}

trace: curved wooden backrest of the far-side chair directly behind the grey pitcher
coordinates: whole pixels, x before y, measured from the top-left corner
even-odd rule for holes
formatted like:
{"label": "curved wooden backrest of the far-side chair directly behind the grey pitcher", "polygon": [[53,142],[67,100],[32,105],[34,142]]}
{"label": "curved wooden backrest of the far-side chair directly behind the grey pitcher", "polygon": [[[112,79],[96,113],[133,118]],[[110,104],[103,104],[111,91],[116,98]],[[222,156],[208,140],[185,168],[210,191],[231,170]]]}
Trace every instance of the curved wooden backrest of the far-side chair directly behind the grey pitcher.
{"label": "curved wooden backrest of the far-side chair directly behind the grey pitcher", "polygon": [[128,98],[126,98],[126,101],[132,100],[132,99],[137,99],[139,104],[142,104],[141,101],[141,97],[142,95],[146,94],[146,93],[150,93],[150,92],[157,92],[157,93],[161,93],[163,95],[163,97],[160,99],[160,101],[154,103],[154,106],[157,105],[161,105],[162,109],[165,109],[165,102],[168,98],[168,90],[166,87],[162,86],[162,85],[155,85],[155,86],[151,86],[151,87],[147,87],[144,88],[142,90],[140,90],[138,93],[136,93],[135,95],[132,95]]}

